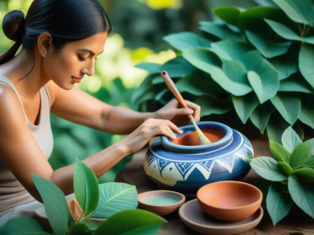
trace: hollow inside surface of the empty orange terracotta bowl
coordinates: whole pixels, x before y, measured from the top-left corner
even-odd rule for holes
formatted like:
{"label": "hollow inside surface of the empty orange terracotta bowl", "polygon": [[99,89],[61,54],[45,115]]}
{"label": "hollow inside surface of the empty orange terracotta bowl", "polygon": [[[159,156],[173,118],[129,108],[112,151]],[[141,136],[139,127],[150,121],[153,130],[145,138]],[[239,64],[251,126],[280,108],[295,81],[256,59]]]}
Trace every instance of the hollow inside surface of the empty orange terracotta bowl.
{"label": "hollow inside surface of the empty orange terracotta bowl", "polygon": [[224,209],[247,206],[260,197],[254,187],[236,183],[208,184],[198,193],[199,200],[207,205]]}

